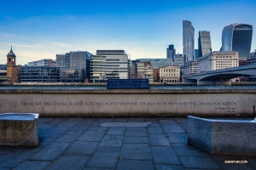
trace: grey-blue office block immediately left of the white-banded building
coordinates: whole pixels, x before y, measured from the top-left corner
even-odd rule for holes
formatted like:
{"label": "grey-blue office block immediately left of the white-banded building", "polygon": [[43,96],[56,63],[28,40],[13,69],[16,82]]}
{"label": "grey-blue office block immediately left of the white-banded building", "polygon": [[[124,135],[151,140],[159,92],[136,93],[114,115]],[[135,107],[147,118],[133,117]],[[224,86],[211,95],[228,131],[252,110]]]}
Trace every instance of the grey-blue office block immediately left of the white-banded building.
{"label": "grey-blue office block immediately left of the white-banded building", "polygon": [[90,53],[71,51],[56,54],[56,66],[61,67],[61,82],[87,82],[90,77]]}

